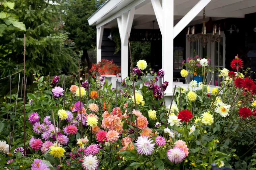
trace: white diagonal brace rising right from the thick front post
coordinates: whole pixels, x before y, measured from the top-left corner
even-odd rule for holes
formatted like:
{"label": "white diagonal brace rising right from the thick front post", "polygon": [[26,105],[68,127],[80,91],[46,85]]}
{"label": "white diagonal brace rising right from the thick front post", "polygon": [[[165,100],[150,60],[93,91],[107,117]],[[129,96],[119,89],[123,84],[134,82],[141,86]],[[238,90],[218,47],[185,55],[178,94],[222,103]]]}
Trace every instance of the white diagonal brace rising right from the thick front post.
{"label": "white diagonal brace rising right from the thick front post", "polygon": [[200,0],[173,28],[175,38],[211,0]]}

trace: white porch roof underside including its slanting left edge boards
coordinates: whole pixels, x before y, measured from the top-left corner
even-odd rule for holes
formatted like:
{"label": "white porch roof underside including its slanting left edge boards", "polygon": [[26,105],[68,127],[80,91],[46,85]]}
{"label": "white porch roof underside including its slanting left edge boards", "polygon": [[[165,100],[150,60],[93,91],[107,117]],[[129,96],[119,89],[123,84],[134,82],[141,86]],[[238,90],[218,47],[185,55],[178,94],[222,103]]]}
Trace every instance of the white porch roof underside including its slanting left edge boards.
{"label": "white porch roof underside including its slanting left edge boards", "polygon": [[[185,16],[199,0],[174,0],[174,25]],[[89,19],[90,25],[103,26],[110,28],[117,26],[115,18],[135,6],[135,16],[133,26],[135,28],[154,28],[158,29],[156,16],[150,0],[108,0],[98,9]],[[212,0],[205,7],[206,17],[213,20],[226,17],[243,18],[245,14],[256,12],[256,0]],[[189,24],[201,22],[202,11]],[[156,25],[156,26],[155,26]]]}

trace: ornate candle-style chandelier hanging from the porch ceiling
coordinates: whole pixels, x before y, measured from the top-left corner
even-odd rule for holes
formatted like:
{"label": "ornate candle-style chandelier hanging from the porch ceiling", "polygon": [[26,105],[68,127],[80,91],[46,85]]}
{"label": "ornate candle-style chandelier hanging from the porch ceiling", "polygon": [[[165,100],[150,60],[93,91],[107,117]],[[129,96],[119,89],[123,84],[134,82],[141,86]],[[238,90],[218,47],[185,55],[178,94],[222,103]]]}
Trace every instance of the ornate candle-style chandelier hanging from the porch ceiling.
{"label": "ornate candle-style chandelier hanging from the porch ceiling", "polygon": [[211,42],[220,42],[221,40],[221,34],[220,34],[220,27],[218,28],[219,35],[217,35],[217,26],[215,25],[213,27],[213,33],[206,33],[206,26],[205,26],[205,11],[203,8],[203,27],[202,32],[195,35],[195,25],[191,28],[191,35],[190,35],[190,27],[188,27],[188,34],[187,39],[189,42],[195,42],[197,40],[200,40],[202,43],[203,48],[207,45],[208,40]]}

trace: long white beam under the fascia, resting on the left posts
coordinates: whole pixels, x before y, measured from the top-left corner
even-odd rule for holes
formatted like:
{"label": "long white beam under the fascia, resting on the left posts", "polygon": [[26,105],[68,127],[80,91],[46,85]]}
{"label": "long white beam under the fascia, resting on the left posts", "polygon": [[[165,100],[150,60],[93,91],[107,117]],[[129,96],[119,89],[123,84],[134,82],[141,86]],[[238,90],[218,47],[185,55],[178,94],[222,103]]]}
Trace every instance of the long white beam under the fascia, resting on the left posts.
{"label": "long white beam under the fascia, resting on the left posts", "polygon": [[125,13],[125,12],[129,11],[130,9],[140,5],[144,1],[146,1],[146,0],[134,0],[133,2],[131,2],[130,4],[126,5],[124,8],[122,8],[121,10],[116,12],[115,14],[111,15],[110,17],[108,17],[104,21],[102,21],[99,24],[97,24],[96,27],[98,28],[98,27],[101,27],[101,26],[105,25],[106,23],[110,22],[111,20],[116,19],[117,17],[119,17],[123,13]]}

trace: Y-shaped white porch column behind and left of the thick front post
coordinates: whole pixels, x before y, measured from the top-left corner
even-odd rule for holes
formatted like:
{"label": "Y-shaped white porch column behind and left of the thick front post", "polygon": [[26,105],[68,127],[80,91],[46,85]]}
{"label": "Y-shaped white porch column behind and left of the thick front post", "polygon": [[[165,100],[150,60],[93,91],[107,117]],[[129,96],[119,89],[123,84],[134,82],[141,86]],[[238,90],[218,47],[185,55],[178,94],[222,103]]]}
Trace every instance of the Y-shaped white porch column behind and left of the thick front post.
{"label": "Y-shaped white porch column behind and left of the thick front post", "polygon": [[123,77],[128,76],[128,36],[130,36],[132,21],[135,13],[135,8],[132,8],[128,13],[122,14],[121,18],[117,18],[118,29],[121,38],[121,73]]}

